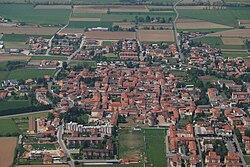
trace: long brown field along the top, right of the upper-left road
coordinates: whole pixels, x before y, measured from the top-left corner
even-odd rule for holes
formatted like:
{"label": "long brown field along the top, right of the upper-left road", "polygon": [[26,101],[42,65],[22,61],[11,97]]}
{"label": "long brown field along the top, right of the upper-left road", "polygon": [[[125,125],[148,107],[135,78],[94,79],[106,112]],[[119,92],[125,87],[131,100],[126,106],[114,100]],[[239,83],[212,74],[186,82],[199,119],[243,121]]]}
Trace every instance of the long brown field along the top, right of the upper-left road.
{"label": "long brown field along the top, right of the upper-left road", "polygon": [[107,13],[108,9],[111,12],[148,12],[145,6],[125,6],[125,5],[80,5],[75,6],[74,13]]}

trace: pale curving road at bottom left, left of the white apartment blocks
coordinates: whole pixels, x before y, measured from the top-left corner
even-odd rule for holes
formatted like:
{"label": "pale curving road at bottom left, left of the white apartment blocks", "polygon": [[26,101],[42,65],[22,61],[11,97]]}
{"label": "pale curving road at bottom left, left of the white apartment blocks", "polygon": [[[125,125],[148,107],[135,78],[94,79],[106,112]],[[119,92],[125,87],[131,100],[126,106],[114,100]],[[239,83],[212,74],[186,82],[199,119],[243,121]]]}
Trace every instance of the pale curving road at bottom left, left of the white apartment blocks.
{"label": "pale curving road at bottom left, left of the white apartment blocks", "polygon": [[61,149],[63,150],[64,153],[66,153],[66,155],[67,155],[67,156],[69,157],[69,159],[70,159],[70,160],[68,161],[70,167],[75,167],[74,160],[71,158],[70,152],[69,152],[69,150],[66,148],[65,143],[64,143],[64,141],[63,141],[63,139],[62,139],[62,135],[63,135],[63,125],[58,126],[57,134],[56,134],[56,135],[57,135],[57,142],[59,143]]}

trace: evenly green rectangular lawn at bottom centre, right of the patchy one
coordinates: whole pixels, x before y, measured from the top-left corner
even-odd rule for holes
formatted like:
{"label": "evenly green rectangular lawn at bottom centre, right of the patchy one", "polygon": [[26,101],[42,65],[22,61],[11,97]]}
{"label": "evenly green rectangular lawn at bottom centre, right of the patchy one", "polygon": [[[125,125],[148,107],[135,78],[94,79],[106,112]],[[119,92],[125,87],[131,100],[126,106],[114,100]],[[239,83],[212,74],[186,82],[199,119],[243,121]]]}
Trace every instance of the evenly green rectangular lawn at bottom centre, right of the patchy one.
{"label": "evenly green rectangular lawn at bottom centre, right of the patchy one", "polygon": [[165,167],[167,165],[165,154],[165,129],[145,129],[146,148],[149,163],[147,166]]}

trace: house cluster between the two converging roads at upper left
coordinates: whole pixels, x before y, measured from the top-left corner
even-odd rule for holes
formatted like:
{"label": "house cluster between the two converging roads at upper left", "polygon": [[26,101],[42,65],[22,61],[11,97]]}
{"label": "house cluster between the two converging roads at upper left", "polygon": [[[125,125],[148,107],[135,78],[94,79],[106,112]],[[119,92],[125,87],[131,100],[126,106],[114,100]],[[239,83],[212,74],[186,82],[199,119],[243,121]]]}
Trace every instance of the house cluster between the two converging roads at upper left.
{"label": "house cluster between the two converging roads at upper left", "polygon": [[56,34],[52,40],[50,54],[70,56],[80,46],[82,34]]}

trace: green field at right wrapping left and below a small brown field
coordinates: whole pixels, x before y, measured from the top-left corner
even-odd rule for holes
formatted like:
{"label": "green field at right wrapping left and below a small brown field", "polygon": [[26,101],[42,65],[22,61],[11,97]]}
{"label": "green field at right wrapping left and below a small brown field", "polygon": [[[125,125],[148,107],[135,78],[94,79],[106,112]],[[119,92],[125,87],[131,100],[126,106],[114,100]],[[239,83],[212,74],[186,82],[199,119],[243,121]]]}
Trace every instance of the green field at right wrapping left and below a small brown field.
{"label": "green field at right wrapping left and below a small brown field", "polygon": [[244,45],[224,45],[222,39],[220,37],[201,37],[196,38],[193,40],[196,43],[201,44],[210,44],[213,48],[220,48],[220,49],[245,49]]}

